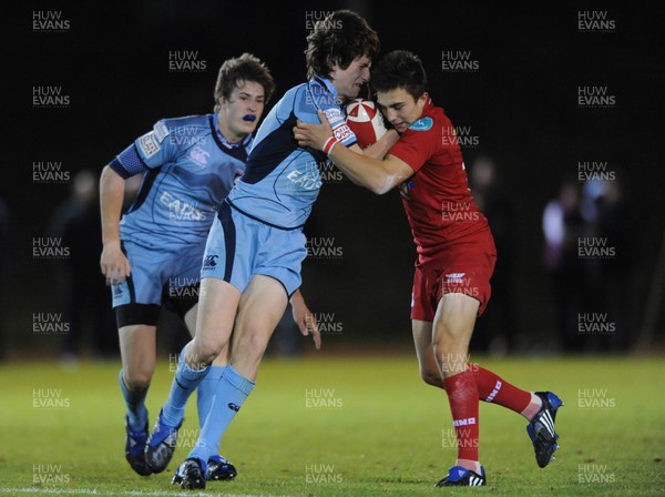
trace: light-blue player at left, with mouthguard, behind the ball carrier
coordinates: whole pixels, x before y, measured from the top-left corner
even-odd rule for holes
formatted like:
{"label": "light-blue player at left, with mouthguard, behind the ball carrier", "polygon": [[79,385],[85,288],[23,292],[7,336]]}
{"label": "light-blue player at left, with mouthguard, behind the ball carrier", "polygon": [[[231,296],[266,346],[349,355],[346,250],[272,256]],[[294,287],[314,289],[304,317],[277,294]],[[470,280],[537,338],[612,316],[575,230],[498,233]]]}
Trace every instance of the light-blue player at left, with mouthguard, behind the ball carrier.
{"label": "light-blue player at left, with mouthguard, behind the ball carrier", "polygon": [[[155,369],[160,307],[176,312],[194,332],[207,233],[224,197],[245,171],[252,133],[274,88],[268,69],[254,55],[229,59],[219,70],[214,113],[157,121],[102,172],[101,268],[112,287],[120,334],[125,457],[142,476],[164,469],[151,467],[144,456],[145,396]],[[121,221],[124,180],[140,173],[145,173],[141,190]],[[300,328],[307,329],[306,322],[311,328],[310,313],[299,294],[291,302]],[[226,366],[227,351],[218,352],[212,374],[198,389],[202,426],[214,384]],[[213,448],[207,462],[211,479],[235,477],[235,468],[217,450]]]}

